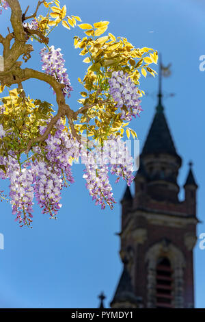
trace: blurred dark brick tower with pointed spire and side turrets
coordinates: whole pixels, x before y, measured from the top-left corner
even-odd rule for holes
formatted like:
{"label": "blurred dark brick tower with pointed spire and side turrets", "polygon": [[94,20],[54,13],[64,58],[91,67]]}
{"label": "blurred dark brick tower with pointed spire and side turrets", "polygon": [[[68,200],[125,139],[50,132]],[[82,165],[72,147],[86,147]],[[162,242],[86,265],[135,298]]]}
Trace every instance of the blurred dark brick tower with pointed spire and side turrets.
{"label": "blurred dark brick tower with pointed spire and side turrets", "polygon": [[197,184],[189,164],[184,200],[178,199],[182,160],[159,101],[135,176],[135,195],[122,198],[122,276],[111,308],[193,308],[193,247]]}

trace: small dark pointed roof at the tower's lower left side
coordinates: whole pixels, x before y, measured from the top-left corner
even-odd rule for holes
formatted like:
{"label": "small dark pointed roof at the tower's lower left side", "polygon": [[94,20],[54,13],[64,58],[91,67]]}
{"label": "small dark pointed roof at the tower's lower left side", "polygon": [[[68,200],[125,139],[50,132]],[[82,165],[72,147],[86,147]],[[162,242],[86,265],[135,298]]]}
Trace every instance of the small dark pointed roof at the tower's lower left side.
{"label": "small dark pointed roof at the tower's lower left side", "polygon": [[124,269],[118,283],[118,287],[115,290],[115,295],[111,303],[130,301],[131,303],[137,303],[137,297],[134,294],[133,285],[131,282],[131,275],[128,273],[127,260],[124,259]]}

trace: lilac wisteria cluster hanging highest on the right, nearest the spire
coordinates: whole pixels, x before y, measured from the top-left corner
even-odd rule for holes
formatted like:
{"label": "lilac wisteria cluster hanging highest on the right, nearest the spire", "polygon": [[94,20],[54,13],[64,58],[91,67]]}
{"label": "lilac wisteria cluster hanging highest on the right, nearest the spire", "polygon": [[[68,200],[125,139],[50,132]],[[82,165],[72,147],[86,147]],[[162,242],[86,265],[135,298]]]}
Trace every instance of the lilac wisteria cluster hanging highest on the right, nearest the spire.
{"label": "lilac wisteria cluster hanging highest on the right, nearest the spire", "polygon": [[[137,86],[123,71],[113,71],[108,82],[111,97],[121,109],[121,119],[131,121],[132,117],[136,117],[136,114],[139,115],[141,111],[141,100]],[[127,110],[123,106],[126,106]]]}

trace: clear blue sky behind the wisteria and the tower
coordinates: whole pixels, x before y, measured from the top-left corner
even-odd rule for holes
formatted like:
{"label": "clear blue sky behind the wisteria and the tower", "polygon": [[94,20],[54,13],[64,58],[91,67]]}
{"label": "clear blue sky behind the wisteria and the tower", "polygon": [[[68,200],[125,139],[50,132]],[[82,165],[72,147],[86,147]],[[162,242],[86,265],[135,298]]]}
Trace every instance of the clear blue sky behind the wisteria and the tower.
{"label": "clear blue sky behind the wisteria and the tower", "polygon": [[[20,0],[23,9],[37,1]],[[205,54],[205,3],[200,0],[76,0],[66,3],[68,14],[81,16],[83,23],[110,21],[109,32],[124,36],[136,47],[152,47],[163,55],[163,63],[172,62],[172,77],[164,79],[165,92],[174,92],[164,101],[167,121],[183,164],[179,184],[187,176],[187,162],[193,160],[198,190],[197,215],[204,220],[204,117],[205,72],[199,70],[200,55]],[[32,10],[30,10],[32,12]],[[3,12],[1,34],[5,34],[10,10]],[[61,47],[66,59],[74,92],[69,99],[78,107],[77,78],[83,77],[87,65],[77,49],[72,48],[79,27],[68,32],[59,27],[51,36],[51,45]],[[36,45],[36,43],[33,43]],[[40,68],[40,45],[37,44],[27,66]],[[0,54],[2,53],[2,49]],[[156,92],[157,79],[141,79],[141,88]],[[55,103],[49,86],[30,81],[25,86],[33,98]],[[141,118],[133,121],[142,147],[154,114],[156,99],[143,98]],[[97,295],[104,290],[106,306],[112,299],[122,264],[120,243],[120,204],[114,210],[94,206],[82,179],[83,166],[74,166],[75,184],[64,190],[63,207],[57,221],[49,220],[35,206],[33,229],[20,228],[14,221],[9,203],[1,203],[0,232],[5,237],[5,249],[0,250],[1,308],[95,308]],[[113,183],[114,180],[111,180]],[[1,182],[8,188],[8,182]],[[125,184],[113,184],[116,201],[120,201]],[[183,192],[180,193],[183,198]],[[198,234],[205,232],[204,223]],[[195,247],[195,306],[205,308],[205,250]]]}

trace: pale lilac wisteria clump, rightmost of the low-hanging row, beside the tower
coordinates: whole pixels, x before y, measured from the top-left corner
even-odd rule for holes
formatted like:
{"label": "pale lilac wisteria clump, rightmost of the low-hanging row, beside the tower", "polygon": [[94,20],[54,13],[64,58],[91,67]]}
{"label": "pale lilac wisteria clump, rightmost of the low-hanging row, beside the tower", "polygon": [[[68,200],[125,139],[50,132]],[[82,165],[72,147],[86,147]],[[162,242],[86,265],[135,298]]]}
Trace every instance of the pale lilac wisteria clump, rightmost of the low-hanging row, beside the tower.
{"label": "pale lilac wisteria clump, rightmost of the low-hanging row, beside the tower", "polygon": [[109,184],[109,170],[112,175],[118,176],[115,182],[119,182],[122,177],[130,186],[134,179],[133,158],[120,137],[110,136],[109,140],[105,140],[102,149],[96,147],[94,151],[90,151],[85,168],[83,178],[87,181],[86,187],[92,199],[102,209],[105,208],[105,203],[111,208],[115,203]]}

